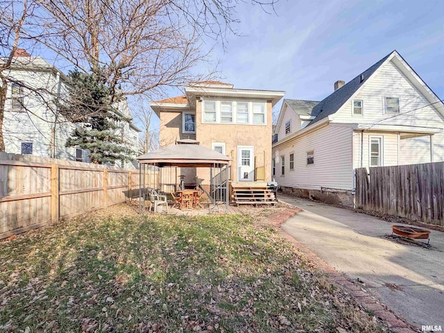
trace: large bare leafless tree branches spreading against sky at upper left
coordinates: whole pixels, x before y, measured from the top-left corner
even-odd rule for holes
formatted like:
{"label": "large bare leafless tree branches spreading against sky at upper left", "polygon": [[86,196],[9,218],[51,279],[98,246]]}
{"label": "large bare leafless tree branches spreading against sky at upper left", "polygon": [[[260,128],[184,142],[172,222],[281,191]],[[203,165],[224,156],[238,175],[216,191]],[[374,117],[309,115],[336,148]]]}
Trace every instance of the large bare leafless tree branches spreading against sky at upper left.
{"label": "large bare leafless tree branches spreading against sky at upper left", "polygon": [[[3,0],[5,6],[2,8],[6,9],[1,9],[1,47],[2,56],[7,53],[6,58],[9,60],[4,62],[0,71],[10,66],[12,55],[21,39],[27,44],[37,42],[73,67],[103,75],[104,82],[112,89],[115,101],[121,94],[143,94],[146,99],[152,99],[162,94],[166,87],[179,87],[189,82],[214,78],[216,69],[210,68],[206,73],[196,69],[203,62],[211,64],[208,56],[214,43],[224,42],[226,33],[237,33],[235,8],[244,2],[31,1]],[[273,4],[278,0],[250,1],[262,6],[264,10],[272,11]],[[21,10],[17,10],[19,6],[22,6]],[[31,17],[29,22],[28,17]],[[208,42],[211,39],[213,44]],[[6,84],[2,84],[2,89],[0,112],[4,110]],[[144,117],[145,112],[141,112],[143,121],[149,121]],[[3,113],[0,114],[0,120],[2,116]],[[145,137],[148,139],[144,141],[150,140],[148,131]],[[145,142],[144,145],[147,144]],[[4,143],[0,135],[1,150],[4,150]]]}

